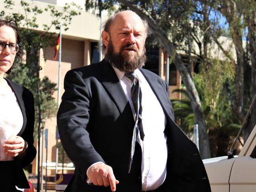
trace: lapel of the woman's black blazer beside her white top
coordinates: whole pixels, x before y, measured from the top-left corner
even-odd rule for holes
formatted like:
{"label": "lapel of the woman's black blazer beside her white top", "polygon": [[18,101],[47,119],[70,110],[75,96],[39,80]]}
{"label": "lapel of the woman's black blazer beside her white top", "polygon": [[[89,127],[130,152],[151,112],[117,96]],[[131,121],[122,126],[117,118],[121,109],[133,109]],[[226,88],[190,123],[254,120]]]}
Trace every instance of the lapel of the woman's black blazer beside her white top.
{"label": "lapel of the woman's black blazer beside her white top", "polygon": [[15,93],[15,96],[18,100],[18,103],[19,103],[19,106],[20,106],[20,110],[21,110],[21,113],[22,113],[22,116],[23,116],[23,125],[22,125],[22,128],[20,130],[20,132],[17,134],[18,136],[20,136],[25,127],[26,127],[26,123],[27,123],[27,117],[26,117],[26,109],[25,109],[25,105],[24,105],[24,102],[23,102],[23,99],[22,99],[22,89],[20,88],[21,86],[17,83],[13,83],[13,81],[10,81],[9,79],[6,79],[6,81],[9,83],[9,85],[11,86],[11,88],[13,89],[14,93]]}

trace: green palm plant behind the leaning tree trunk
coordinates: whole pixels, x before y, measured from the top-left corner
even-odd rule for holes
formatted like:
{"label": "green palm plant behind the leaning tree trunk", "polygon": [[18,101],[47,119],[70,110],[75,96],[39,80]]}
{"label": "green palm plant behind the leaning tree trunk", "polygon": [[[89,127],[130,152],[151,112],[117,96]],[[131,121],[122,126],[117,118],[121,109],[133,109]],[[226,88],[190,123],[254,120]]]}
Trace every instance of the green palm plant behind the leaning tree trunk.
{"label": "green palm plant behind the leaning tree trunk", "polygon": [[[195,74],[193,81],[198,91],[204,116],[208,127],[212,157],[226,155],[230,136],[236,136],[240,125],[232,114],[231,103],[226,97],[223,87],[216,89],[215,94],[209,94],[204,75]],[[171,100],[177,123],[189,134],[193,132],[195,116],[191,109],[186,89],[175,89],[182,93],[182,100]]]}

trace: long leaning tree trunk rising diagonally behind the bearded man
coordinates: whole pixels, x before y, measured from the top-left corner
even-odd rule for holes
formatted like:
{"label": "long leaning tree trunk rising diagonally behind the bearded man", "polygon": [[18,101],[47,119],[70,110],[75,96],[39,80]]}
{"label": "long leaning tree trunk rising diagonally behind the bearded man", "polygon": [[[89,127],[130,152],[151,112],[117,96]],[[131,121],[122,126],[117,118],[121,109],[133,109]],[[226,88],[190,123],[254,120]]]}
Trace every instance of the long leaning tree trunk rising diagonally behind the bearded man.
{"label": "long leaning tree trunk rising diagonally behind the bearded man", "polygon": [[211,157],[209,139],[207,134],[207,127],[204,118],[204,113],[202,109],[202,105],[200,103],[200,99],[197,93],[197,89],[192,81],[189,72],[187,71],[186,66],[184,65],[180,55],[176,53],[174,45],[165,35],[165,32],[158,26],[158,23],[151,17],[149,13],[140,6],[132,4],[129,0],[119,0],[122,4],[127,7],[130,7],[135,13],[137,13],[140,17],[145,18],[148,22],[148,25],[153,33],[155,33],[160,44],[165,48],[167,54],[172,56],[175,55],[174,64],[176,68],[179,70],[180,75],[182,77],[182,81],[186,86],[187,92],[189,94],[189,99],[191,100],[191,106],[193,109],[193,113],[195,114],[195,120],[198,124],[198,132],[199,132],[199,146],[200,146],[200,155],[202,159],[207,159]]}

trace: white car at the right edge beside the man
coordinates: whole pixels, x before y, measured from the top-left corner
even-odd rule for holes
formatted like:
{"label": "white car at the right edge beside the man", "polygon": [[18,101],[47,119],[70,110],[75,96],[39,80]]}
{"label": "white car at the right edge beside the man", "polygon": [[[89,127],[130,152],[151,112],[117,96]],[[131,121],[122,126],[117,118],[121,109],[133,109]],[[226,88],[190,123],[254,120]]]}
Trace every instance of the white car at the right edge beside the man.
{"label": "white car at the right edge beside the man", "polygon": [[256,126],[238,156],[203,162],[212,192],[256,192]]}

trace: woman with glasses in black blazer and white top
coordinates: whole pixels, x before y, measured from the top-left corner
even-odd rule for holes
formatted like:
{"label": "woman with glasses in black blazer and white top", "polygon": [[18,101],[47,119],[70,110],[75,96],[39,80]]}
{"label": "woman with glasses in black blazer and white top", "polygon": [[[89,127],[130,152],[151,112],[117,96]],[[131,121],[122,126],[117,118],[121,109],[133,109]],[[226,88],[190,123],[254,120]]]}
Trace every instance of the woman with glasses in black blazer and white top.
{"label": "woman with glasses in black blazer and white top", "polygon": [[0,189],[30,188],[22,170],[36,155],[33,146],[34,100],[28,89],[4,78],[21,57],[20,35],[13,22],[0,20]]}

